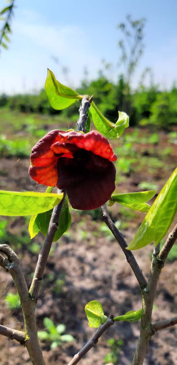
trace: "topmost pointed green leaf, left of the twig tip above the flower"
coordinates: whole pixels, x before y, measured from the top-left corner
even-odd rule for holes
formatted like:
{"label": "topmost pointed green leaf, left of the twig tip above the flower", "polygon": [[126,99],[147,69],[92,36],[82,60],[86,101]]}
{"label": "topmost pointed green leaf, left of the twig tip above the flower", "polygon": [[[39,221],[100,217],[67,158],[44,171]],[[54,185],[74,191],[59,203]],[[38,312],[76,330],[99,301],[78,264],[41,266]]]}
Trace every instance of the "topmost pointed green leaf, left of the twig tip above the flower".
{"label": "topmost pointed green leaf, left of the twig tip above the flower", "polygon": [[52,108],[56,110],[65,109],[75,103],[76,100],[82,99],[82,96],[76,91],[60,84],[49,69],[47,69],[45,90]]}

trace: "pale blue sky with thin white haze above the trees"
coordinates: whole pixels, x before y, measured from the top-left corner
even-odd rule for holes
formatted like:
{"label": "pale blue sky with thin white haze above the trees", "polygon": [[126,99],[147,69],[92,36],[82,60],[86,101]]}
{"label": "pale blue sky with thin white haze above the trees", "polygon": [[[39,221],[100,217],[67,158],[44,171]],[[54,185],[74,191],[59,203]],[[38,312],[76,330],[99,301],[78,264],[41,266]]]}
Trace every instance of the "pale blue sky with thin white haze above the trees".
{"label": "pale blue sky with thin white haze above the trees", "polygon": [[[0,0],[0,8],[5,0]],[[113,63],[108,74],[116,80],[122,38],[116,25],[130,14],[145,17],[145,51],[132,81],[136,87],[146,67],[161,88],[177,80],[177,0],[16,0],[9,50],[0,54],[0,93],[32,92],[44,87],[47,67],[60,82],[79,85],[83,70],[97,77],[101,59]],[[59,59],[59,65],[52,56]],[[62,66],[70,70],[68,80]],[[148,80],[146,81],[149,82]]]}

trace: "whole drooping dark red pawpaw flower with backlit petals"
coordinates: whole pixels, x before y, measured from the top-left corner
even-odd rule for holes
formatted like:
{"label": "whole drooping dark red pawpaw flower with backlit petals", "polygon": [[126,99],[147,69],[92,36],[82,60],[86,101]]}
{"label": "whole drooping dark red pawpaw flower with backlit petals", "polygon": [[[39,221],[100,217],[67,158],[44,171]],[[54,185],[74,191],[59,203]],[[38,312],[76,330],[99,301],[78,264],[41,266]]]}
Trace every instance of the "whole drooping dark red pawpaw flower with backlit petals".
{"label": "whole drooping dark red pawpaw flower with backlit petals", "polygon": [[75,209],[92,210],[115,189],[117,156],[97,131],[53,130],[32,148],[30,176],[39,184],[66,189]]}

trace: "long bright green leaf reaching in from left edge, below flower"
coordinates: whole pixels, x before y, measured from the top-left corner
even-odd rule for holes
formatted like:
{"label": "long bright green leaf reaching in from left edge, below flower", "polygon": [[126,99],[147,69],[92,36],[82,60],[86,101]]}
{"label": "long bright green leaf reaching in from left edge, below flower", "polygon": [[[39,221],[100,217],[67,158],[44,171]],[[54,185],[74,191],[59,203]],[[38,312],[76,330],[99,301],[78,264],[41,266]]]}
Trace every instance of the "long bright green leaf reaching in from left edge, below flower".
{"label": "long bright green leaf reaching in from left edge, below flower", "polygon": [[0,215],[20,216],[45,212],[59,204],[62,194],[0,191]]}

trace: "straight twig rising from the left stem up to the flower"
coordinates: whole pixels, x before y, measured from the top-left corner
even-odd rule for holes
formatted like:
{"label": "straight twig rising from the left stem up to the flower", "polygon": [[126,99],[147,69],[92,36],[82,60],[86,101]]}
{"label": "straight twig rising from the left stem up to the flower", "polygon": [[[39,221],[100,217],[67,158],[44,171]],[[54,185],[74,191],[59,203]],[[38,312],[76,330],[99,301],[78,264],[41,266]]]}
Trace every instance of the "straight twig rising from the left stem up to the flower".
{"label": "straight twig rising from the left stem up to the flower", "polygon": [[[58,192],[62,193],[63,190],[59,190]],[[29,290],[31,298],[34,299],[35,301],[38,298],[40,284],[43,279],[44,270],[46,268],[46,263],[47,263],[48,255],[50,253],[54,235],[58,229],[58,220],[59,220],[60,213],[62,211],[65,196],[66,196],[66,192],[64,191],[63,199],[60,201],[60,203],[56,207],[54,207],[54,210],[53,210],[52,216],[51,216],[51,220],[50,220],[50,224],[48,227],[46,239],[44,241],[43,247],[42,247],[39,257],[38,257],[38,263],[36,265],[34,277],[33,277],[32,284],[31,284],[31,287]]]}

